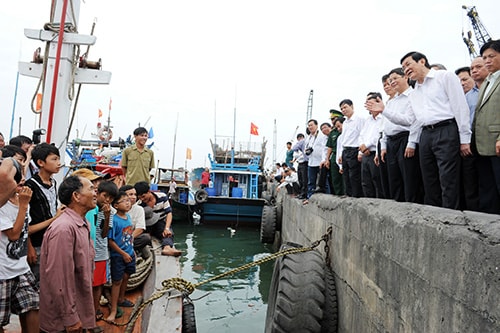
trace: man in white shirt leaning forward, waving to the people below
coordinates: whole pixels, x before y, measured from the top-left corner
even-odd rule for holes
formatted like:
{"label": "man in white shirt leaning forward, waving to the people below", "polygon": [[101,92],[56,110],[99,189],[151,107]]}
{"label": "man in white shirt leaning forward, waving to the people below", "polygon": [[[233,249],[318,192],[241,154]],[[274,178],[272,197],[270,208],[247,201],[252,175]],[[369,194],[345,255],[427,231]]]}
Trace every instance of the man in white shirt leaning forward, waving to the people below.
{"label": "man in white shirt leaning forward, waving to the people below", "polygon": [[[419,144],[424,203],[458,209],[460,155],[471,154],[469,108],[460,80],[453,72],[431,69],[419,52],[406,54],[401,64],[405,75],[416,81],[409,96],[412,112],[408,118],[422,127]],[[376,104],[378,101],[370,101],[369,108],[377,110],[372,108]]]}

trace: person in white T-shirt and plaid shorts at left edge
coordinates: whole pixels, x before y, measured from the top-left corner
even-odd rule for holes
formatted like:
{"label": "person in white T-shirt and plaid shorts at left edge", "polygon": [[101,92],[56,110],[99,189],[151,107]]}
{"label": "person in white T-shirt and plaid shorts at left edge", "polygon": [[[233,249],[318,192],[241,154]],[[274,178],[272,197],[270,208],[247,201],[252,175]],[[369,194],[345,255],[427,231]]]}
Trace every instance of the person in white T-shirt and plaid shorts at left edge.
{"label": "person in white T-shirt and plaid shorts at left edge", "polygon": [[[5,149],[5,148],[4,148]],[[2,149],[21,165],[26,154]],[[39,332],[39,296],[35,277],[27,262],[28,208],[32,191],[18,183],[16,192],[0,207],[0,332],[9,324],[11,312],[19,315],[23,332]]]}

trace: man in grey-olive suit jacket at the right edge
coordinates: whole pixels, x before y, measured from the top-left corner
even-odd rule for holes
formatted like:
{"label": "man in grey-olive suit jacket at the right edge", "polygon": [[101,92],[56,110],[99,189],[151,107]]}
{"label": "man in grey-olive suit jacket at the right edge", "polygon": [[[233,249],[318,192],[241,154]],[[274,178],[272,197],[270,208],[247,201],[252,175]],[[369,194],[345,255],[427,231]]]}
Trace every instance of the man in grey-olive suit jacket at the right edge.
{"label": "man in grey-olive suit jacket at the right edge", "polygon": [[479,154],[479,210],[500,214],[500,40],[481,47],[490,74],[479,90],[474,142]]}

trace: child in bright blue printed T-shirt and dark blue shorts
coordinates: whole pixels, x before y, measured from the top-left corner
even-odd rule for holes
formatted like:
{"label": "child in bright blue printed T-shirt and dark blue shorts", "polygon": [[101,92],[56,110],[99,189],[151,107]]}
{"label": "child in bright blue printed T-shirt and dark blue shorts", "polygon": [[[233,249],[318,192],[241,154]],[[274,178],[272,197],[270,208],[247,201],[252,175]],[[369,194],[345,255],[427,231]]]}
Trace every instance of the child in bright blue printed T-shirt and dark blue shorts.
{"label": "child in bright blue printed T-shirt and dark blue shorts", "polygon": [[135,273],[134,225],[127,213],[131,203],[127,193],[119,191],[113,200],[116,213],[113,216],[113,226],[109,230],[108,243],[111,254],[111,312],[109,321],[116,318],[118,306],[133,307],[134,303],[125,299],[128,278]]}

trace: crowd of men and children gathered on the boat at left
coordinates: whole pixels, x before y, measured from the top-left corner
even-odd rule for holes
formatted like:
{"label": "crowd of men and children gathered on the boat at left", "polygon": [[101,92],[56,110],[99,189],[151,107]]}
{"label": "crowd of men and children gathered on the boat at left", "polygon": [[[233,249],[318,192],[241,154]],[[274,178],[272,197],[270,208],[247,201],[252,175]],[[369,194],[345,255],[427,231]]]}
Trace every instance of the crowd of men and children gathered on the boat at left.
{"label": "crowd of men and children gathered on the boat at left", "polygon": [[151,254],[151,236],[162,255],[181,255],[168,198],[150,190],[147,133],[137,128],[123,151],[124,184],[88,168],[57,184],[56,146],[23,135],[5,145],[0,133],[0,333],[11,314],[23,332],[101,332],[97,320],[114,321],[134,306],[127,281],[136,258]]}

